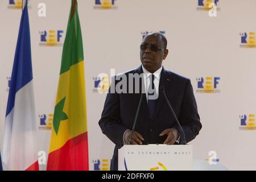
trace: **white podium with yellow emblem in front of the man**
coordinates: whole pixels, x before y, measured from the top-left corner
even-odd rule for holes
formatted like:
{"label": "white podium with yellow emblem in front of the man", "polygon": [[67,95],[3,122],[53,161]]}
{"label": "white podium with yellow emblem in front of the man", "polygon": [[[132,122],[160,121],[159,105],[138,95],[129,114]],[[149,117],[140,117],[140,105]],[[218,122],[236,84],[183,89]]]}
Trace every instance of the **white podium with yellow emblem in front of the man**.
{"label": "white podium with yellow emblem in front of the man", "polygon": [[118,170],[192,170],[192,150],[191,145],[125,145],[118,150]]}

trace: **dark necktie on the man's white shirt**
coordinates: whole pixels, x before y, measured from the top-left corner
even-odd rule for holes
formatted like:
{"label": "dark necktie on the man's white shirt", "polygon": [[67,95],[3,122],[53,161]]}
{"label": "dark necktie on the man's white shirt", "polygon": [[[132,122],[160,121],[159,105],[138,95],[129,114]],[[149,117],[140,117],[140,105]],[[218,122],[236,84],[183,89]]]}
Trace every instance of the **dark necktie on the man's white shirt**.
{"label": "dark necktie on the man's white shirt", "polygon": [[154,85],[155,76],[152,74],[149,76],[150,78],[150,85],[148,86],[148,95],[147,95],[147,105],[148,105],[148,111],[150,113],[150,118],[153,117],[154,111],[155,111],[155,96],[156,96],[156,89]]}

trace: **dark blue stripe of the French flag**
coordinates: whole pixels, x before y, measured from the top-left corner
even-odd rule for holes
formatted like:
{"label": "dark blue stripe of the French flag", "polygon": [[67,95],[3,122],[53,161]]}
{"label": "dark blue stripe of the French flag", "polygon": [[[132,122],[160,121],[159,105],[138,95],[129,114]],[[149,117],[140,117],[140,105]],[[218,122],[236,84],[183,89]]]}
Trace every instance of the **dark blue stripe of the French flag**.
{"label": "dark blue stripe of the French flag", "polygon": [[6,109],[6,116],[14,107],[15,94],[24,85],[32,80],[32,61],[30,44],[30,24],[28,21],[27,1],[22,11],[20,20],[19,36],[11,73],[10,90]]}

